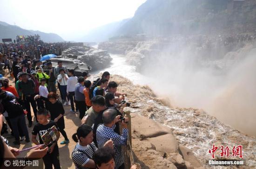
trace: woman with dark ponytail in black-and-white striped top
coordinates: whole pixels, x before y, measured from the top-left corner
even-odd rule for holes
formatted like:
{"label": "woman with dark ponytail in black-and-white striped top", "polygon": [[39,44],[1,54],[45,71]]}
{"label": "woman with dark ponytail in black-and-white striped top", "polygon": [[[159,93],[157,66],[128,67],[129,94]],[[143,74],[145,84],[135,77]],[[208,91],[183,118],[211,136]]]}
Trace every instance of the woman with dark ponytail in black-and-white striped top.
{"label": "woman with dark ponytail in black-and-white striped top", "polygon": [[[93,142],[93,130],[87,124],[78,127],[76,133],[72,136],[77,143],[72,151],[72,160],[76,169],[95,169],[96,164],[92,160],[97,147]],[[113,141],[108,140],[105,146],[113,148]]]}

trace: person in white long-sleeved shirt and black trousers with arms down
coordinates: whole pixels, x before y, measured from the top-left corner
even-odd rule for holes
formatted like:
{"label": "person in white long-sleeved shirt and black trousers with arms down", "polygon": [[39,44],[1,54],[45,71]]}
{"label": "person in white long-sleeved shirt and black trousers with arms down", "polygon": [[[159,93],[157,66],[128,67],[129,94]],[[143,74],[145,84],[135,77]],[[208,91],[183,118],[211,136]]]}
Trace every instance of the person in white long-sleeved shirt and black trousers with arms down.
{"label": "person in white long-sleeved shirt and black trousers with arms down", "polygon": [[[70,78],[67,79],[67,95],[69,96],[70,101],[68,102],[68,104],[71,104],[71,110],[70,112],[75,113],[75,109],[74,109],[74,88],[75,88],[75,84],[77,84],[77,77],[74,76],[74,70],[70,69],[68,70],[68,74],[70,76]],[[77,110],[78,112],[78,110]]]}

